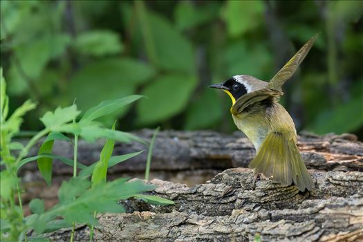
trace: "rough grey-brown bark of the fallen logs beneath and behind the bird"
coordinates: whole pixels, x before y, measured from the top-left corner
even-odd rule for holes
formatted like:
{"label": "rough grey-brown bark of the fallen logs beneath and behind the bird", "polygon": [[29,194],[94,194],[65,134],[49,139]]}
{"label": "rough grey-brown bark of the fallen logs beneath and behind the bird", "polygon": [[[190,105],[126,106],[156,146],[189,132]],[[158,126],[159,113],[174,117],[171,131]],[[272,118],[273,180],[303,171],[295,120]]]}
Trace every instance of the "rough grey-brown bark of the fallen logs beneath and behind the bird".
{"label": "rough grey-brown bark of the fallen logs beneath and behind the bird", "polygon": [[[138,134],[149,138],[151,131]],[[66,144],[63,154],[68,152]],[[116,153],[145,149],[118,145]],[[214,132],[161,132],[153,154],[153,171],[173,173],[208,170],[209,181],[187,186],[153,179],[152,194],[175,205],[154,206],[139,200],[124,202],[127,214],[100,214],[95,241],[358,241],[363,240],[363,145],[352,135],[299,137],[299,149],[315,181],[311,192],[282,187],[260,177],[252,187],[254,156],[243,136]],[[98,145],[80,147],[81,162],[97,160]],[[57,151],[55,151],[57,153]],[[71,151],[69,151],[71,153]],[[68,153],[68,154],[69,154]],[[138,156],[112,169],[113,174],[144,169]],[[34,169],[28,166],[28,171]],[[61,172],[62,171],[62,172]],[[59,166],[58,174],[68,174]],[[154,173],[158,174],[158,173]],[[194,176],[196,176],[194,174]],[[50,234],[66,241],[70,230]],[[76,241],[88,241],[89,229],[77,227]]]}

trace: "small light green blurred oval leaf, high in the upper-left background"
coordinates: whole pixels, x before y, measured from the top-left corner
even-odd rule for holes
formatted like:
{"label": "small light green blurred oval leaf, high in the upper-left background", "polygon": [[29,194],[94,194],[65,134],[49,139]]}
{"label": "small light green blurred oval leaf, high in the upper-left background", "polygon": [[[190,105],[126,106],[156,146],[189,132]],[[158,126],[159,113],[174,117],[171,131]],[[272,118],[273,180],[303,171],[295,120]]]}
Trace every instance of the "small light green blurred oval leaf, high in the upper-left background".
{"label": "small light green blurred oval leaf, high in the upper-left background", "polygon": [[111,30],[91,30],[77,35],[75,48],[81,54],[102,57],[120,53],[123,46],[118,33]]}

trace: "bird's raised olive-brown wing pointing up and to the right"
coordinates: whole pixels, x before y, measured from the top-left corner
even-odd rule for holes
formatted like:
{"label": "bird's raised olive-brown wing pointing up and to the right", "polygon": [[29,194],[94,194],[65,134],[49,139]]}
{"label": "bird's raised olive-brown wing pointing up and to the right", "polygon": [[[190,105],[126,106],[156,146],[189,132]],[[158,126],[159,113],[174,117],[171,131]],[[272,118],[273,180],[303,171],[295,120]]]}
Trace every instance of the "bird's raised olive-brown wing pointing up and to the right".
{"label": "bird's raised olive-brown wing pointing up and to the right", "polygon": [[269,89],[281,90],[283,84],[288,80],[297,70],[297,67],[304,60],[306,55],[308,54],[310,48],[313,46],[317,35],[314,35],[309,39],[304,46],[302,46],[299,51],[288,61],[288,63],[281,68],[281,70],[272,77],[270,82],[268,82]]}

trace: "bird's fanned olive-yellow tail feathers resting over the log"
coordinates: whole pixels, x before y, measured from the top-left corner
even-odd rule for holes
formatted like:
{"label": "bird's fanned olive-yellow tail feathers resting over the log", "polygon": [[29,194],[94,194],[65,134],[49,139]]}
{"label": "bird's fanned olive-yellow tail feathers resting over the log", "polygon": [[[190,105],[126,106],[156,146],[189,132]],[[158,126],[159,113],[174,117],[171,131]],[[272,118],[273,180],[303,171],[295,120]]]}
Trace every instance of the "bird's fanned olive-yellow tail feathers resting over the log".
{"label": "bird's fanned olive-yellow tail feathers resting over the log", "polygon": [[271,132],[261,145],[257,156],[250,162],[250,168],[282,185],[293,182],[301,192],[309,191],[314,183],[306,169],[295,139],[288,133]]}

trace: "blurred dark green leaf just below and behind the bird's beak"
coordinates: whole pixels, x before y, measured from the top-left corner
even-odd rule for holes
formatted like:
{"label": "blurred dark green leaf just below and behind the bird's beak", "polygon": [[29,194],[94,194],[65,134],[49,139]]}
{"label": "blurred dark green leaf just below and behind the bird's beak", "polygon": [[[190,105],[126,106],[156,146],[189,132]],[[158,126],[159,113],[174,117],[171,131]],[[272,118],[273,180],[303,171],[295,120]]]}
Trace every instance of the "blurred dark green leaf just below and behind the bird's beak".
{"label": "blurred dark green leaf just below and behind the bird's beak", "polygon": [[223,115],[227,115],[227,111],[223,112],[218,93],[205,88],[187,109],[184,127],[189,130],[211,128]]}

